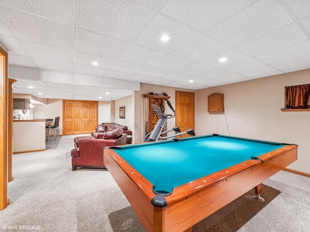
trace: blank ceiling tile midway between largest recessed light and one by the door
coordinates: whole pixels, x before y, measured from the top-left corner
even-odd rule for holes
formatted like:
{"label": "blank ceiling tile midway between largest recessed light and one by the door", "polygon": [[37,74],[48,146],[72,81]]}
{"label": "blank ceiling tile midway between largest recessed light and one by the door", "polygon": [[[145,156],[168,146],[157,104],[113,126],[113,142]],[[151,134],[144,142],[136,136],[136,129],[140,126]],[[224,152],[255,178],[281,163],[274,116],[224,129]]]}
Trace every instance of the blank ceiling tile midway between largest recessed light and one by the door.
{"label": "blank ceiling tile midway between largest recessed light and one by the door", "polygon": [[160,59],[159,61],[157,61],[155,64],[152,65],[152,67],[155,67],[158,69],[165,69],[165,70],[174,72],[188,65],[191,65],[193,63],[194,63],[193,61],[188,60],[188,59],[183,59],[183,58],[168,55]]}

